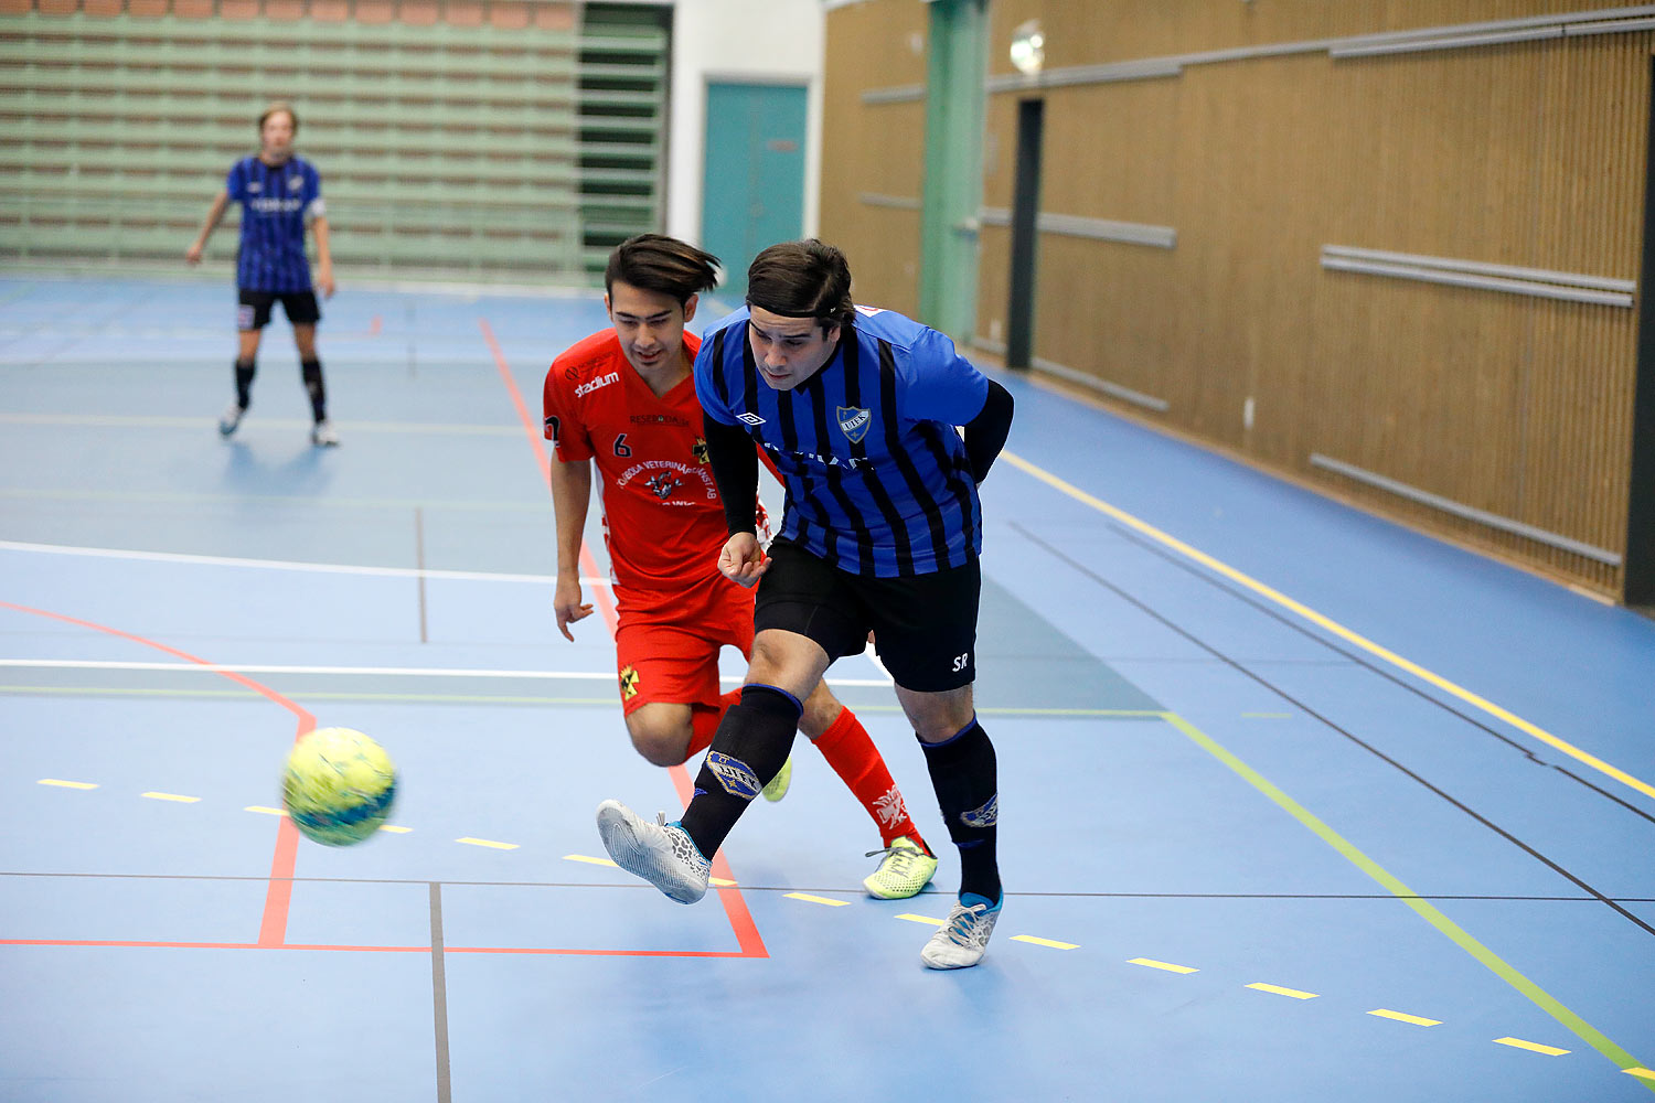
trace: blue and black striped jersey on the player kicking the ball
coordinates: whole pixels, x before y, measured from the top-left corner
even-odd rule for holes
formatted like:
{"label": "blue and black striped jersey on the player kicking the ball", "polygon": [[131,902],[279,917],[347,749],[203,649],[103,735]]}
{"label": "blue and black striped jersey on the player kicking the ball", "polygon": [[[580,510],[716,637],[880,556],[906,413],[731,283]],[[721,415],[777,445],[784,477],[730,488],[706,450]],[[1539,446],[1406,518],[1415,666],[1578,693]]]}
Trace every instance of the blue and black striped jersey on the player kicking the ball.
{"label": "blue and black striped jersey on the player kicking the ball", "polygon": [[702,410],[775,461],[781,537],[862,575],[965,566],[983,549],[983,518],[955,427],[981,413],[988,377],[935,329],[856,311],[832,359],[793,390],[760,379],[746,308],[715,322],[695,357]]}

